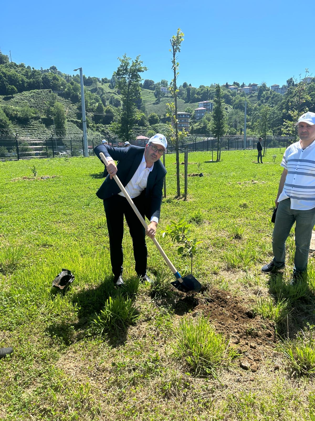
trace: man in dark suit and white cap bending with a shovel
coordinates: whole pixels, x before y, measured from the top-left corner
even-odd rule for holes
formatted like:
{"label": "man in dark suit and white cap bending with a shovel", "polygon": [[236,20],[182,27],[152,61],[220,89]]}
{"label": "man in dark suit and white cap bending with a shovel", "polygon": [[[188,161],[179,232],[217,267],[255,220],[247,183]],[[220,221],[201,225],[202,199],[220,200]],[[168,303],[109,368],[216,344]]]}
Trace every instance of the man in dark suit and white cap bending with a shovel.
{"label": "man in dark suit and white cap bending with a shovel", "polygon": [[[110,242],[110,261],[115,285],[123,284],[123,216],[129,226],[133,242],[135,269],[140,280],[151,282],[147,275],[147,245],[145,234],[154,237],[160,218],[163,180],[166,174],[160,157],[166,151],[167,141],[160,133],[150,138],[146,147],[131,145],[114,148],[99,145],[94,151],[100,158],[103,152],[108,160],[108,175],[96,195],[104,202]],[[117,166],[114,161],[118,161]],[[113,179],[117,174],[134,204],[144,218],[150,221],[147,232]]]}

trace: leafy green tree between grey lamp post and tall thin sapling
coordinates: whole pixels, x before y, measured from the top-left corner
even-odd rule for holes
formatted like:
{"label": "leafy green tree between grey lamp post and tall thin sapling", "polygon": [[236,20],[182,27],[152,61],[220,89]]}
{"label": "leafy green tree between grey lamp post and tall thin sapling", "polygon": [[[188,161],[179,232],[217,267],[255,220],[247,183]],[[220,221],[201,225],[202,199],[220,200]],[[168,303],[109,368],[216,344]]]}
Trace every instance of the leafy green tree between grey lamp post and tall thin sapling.
{"label": "leafy green tree between grey lamp post and tall thin sapling", "polygon": [[142,66],[142,61],[139,57],[136,56],[136,59],[132,61],[126,54],[122,58],[118,57],[121,64],[113,74],[116,77],[116,87],[120,90],[123,101],[118,136],[126,141],[131,139],[131,128],[136,118],[135,104],[141,96],[139,84],[142,78],[140,73],[147,70],[147,67]]}

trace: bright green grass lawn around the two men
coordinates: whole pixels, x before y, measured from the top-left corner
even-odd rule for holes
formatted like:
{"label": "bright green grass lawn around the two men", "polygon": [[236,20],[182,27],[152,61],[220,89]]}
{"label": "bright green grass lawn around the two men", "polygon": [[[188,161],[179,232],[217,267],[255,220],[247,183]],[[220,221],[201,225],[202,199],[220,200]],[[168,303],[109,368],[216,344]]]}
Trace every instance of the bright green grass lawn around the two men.
{"label": "bright green grass lawn around the two men", "polygon": [[[0,346],[14,349],[0,360],[0,419],[315,420],[313,258],[307,279],[290,285],[292,231],[286,269],[260,272],[272,258],[283,152],[268,149],[263,165],[256,151],[222,152],[220,163],[189,153],[189,174],[204,176],[188,178],[187,201],[175,198],[166,155],[157,240],[190,273],[162,232],[191,222],[202,241],[194,296],[171,287],[150,239],[155,282],[139,284],[128,229],[126,285],[113,287],[97,157],[0,163]],[[60,292],[52,281],[63,268],[75,280]]]}

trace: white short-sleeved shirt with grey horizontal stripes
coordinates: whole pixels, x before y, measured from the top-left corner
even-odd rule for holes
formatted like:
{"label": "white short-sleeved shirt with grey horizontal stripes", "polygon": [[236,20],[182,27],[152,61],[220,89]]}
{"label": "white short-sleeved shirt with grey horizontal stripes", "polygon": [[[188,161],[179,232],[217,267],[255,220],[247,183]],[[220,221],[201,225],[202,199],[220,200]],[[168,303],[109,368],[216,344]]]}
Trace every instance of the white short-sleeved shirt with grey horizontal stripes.
{"label": "white short-sleeved shirt with grey horizontal stripes", "polygon": [[300,141],[284,152],[281,167],[288,173],[278,202],[291,199],[291,209],[315,208],[315,141],[302,149]]}

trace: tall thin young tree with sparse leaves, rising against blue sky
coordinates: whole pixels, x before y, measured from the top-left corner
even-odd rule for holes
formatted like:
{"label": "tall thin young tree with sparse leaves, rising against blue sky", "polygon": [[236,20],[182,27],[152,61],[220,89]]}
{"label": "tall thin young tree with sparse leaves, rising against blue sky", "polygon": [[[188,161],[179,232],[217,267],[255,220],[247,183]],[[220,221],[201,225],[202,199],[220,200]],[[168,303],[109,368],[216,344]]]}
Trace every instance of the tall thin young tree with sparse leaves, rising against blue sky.
{"label": "tall thin young tree with sparse leaves, rising against blue sky", "polygon": [[180,184],[179,184],[179,139],[178,139],[178,118],[177,118],[177,76],[178,76],[178,67],[179,67],[179,63],[177,61],[177,57],[176,54],[180,53],[181,51],[181,43],[184,41],[184,33],[181,32],[181,29],[178,28],[177,29],[177,34],[173,35],[172,39],[171,39],[171,53],[173,54],[173,59],[172,59],[172,69],[174,71],[174,78],[171,80],[170,83],[170,91],[171,94],[174,98],[174,104],[175,104],[175,109],[174,109],[174,114],[175,114],[175,119],[174,119],[174,126],[175,126],[175,149],[176,149],[176,179],[177,179],[177,197],[181,196],[181,188],[180,188]]}

